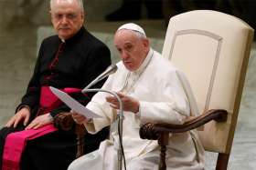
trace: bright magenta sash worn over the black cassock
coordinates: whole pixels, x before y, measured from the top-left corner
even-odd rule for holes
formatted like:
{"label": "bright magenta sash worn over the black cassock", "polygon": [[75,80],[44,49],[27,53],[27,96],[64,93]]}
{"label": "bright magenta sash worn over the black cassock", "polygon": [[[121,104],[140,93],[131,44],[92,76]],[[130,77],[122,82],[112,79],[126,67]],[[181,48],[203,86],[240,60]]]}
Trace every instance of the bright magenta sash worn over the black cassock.
{"label": "bright magenta sash worn over the black cassock", "polygon": [[[80,89],[64,88],[63,91],[70,94],[80,92]],[[57,96],[52,94],[48,86],[41,87],[40,109],[37,115],[47,114],[60,104],[61,101]],[[5,138],[2,170],[19,170],[20,158],[27,145],[27,140],[32,140],[57,130],[57,128],[50,124],[38,129],[23,130],[7,135]]]}

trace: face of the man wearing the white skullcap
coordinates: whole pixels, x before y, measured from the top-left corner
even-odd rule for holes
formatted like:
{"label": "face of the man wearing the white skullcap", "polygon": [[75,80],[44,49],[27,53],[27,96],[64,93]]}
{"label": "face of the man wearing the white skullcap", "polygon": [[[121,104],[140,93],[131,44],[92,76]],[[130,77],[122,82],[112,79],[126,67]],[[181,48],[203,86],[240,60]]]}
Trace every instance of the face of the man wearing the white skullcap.
{"label": "face of the man wearing the white skullcap", "polygon": [[131,30],[118,31],[114,36],[114,45],[129,71],[137,70],[149,51],[148,39],[135,35]]}

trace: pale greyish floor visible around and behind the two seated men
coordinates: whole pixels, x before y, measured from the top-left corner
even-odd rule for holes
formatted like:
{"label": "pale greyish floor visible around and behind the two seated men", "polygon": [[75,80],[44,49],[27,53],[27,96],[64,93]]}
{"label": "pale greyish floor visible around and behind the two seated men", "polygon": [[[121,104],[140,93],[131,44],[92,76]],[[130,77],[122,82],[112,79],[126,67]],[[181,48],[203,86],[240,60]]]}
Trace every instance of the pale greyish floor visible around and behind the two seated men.
{"label": "pale greyish floor visible around and behind the two seated men", "polygon": [[[1,18],[0,18],[1,19]],[[161,23],[161,21],[159,21]],[[158,23],[159,24],[159,23]],[[150,35],[164,38],[162,25],[154,23]],[[103,27],[112,25],[111,27]],[[115,24],[103,23],[104,30],[112,31]],[[89,29],[102,28],[90,25]],[[15,106],[26,90],[37,58],[37,26],[17,23],[0,25],[0,126],[15,112]],[[154,29],[155,28],[155,29]],[[158,30],[158,31],[157,31]],[[162,30],[159,32],[159,30]],[[242,95],[240,116],[229,159],[230,170],[256,169],[256,59],[254,45],[246,84]],[[207,154],[206,169],[214,169],[215,154]]]}

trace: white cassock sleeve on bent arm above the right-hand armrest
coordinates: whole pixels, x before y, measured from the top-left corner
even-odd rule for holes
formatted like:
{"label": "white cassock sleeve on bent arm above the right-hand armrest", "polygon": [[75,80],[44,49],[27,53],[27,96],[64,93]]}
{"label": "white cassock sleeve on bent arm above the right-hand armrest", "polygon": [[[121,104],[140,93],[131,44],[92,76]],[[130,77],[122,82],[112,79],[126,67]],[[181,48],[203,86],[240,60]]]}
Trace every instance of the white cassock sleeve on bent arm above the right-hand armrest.
{"label": "white cassock sleeve on bent arm above the right-hand armrest", "polygon": [[157,102],[140,101],[142,122],[183,124],[190,115],[187,94],[175,71],[155,85]]}

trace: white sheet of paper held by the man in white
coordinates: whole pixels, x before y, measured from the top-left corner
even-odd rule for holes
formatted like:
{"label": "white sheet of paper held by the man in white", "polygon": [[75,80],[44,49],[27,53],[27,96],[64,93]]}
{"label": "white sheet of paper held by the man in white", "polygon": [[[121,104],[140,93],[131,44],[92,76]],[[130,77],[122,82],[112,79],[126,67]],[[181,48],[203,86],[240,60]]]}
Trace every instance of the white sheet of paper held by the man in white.
{"label": "white sheet of paper held by the man in white", "polygon": [[87,118],[100,118],[101,117],[100,115],[97,115],[97,114],[94,114],[93,112],[91,112],[91,110],[86,108],[84,105],[80,105],[80,103],[78,101],[73,99],[67,93],[62,92],[58,88],[55,88],[52,86],[50,86],[49,88],[54,95],[58,96],[59,100],[61,100],[66,105],[68,105],[69,108],[71,110],[75,111],[76,113],[78,113],[80,115],[84,115]]}

